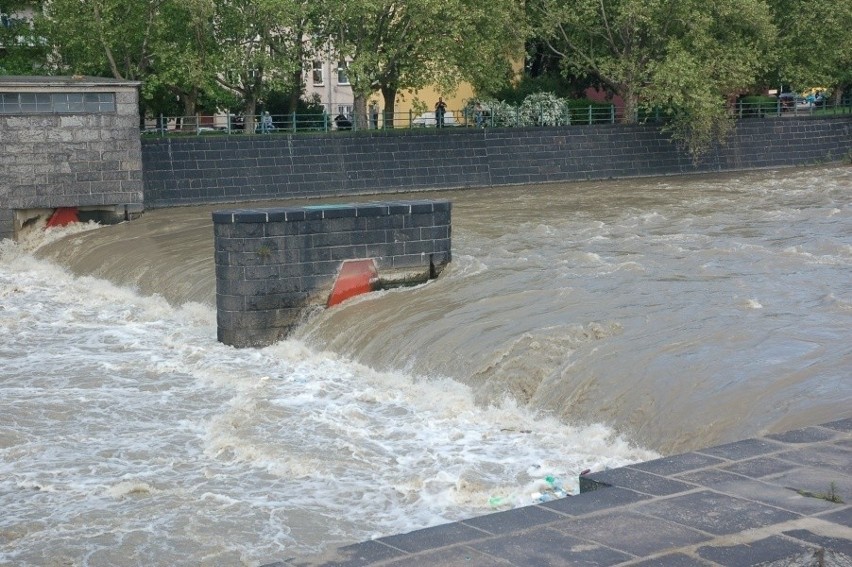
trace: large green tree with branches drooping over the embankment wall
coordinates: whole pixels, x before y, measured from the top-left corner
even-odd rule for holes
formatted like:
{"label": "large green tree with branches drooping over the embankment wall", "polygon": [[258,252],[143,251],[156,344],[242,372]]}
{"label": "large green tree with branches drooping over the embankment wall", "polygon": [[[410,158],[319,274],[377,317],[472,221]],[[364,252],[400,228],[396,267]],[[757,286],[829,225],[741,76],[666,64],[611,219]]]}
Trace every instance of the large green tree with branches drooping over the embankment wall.
{"label": "large green tree with branches drooping over the embankment wall", "polygon": [[620,95],[625,122],[662,110],[694,156],[724,140],[726,98],[753,85],[776,39],[762,0],[532,0],[528,14],[564,73]]}

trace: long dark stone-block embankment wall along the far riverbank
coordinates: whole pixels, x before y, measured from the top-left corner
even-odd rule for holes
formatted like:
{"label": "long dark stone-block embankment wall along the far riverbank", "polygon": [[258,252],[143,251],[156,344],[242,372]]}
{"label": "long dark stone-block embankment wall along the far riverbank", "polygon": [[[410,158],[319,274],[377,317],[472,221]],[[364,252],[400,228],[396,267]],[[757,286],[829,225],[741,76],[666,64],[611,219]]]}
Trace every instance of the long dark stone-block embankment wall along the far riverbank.
{"label": "long dark stone-block embankment wall along the far riverbank", "polygon": [[852,115],[743,120],[700,163],[658,126],[143,140],[145,207],[641,177],[849,159]]}

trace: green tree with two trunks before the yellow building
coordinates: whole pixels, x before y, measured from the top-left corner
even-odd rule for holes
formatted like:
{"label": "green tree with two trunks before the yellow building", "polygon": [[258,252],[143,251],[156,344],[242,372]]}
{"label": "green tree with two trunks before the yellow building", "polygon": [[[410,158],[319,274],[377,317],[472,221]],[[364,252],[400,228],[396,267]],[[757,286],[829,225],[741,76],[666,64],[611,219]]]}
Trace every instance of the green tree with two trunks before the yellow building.
{"label": "green tree with two trunks before the yellow building", "polygon": [[496,0],[326,0],[324,41],[341,61],[354,94],[356,123],[367,123],[367,100],[381,92],[385,123],[397,94],[437,86],[451,91],[462,79],[496,84],[510,70],[518,33],[517,4]]}

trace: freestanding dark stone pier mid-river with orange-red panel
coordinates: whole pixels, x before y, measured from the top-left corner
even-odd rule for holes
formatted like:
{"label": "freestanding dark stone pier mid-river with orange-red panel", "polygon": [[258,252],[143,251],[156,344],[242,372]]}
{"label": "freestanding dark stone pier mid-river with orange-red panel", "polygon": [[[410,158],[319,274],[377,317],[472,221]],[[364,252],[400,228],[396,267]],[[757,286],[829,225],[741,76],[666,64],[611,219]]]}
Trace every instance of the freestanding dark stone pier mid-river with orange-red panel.
{"label": "freestanding dark stone pier mid-river with orange-red panel", "polygon": [[[345,298],[436,277],[451,259],[450,216],[443,200],[214,212],[219,341],[267,346],[308,308],[336,303],[333,289]],[[344,270],[352,260],[368,262]],[[348,289],[335,286],[341,274]]]}

